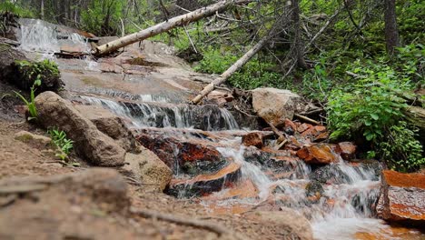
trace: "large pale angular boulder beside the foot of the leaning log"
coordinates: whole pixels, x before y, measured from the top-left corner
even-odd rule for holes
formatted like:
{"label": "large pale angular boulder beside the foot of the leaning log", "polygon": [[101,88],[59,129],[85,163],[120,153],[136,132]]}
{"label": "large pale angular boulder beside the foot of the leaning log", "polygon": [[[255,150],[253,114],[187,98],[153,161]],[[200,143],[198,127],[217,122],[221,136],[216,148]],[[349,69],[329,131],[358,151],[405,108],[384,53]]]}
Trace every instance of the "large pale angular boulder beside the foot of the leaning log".
{"label": "large pale angular boulder beside the foot of the leaning log", "polygon": [[301,96],[289,90],[276,88],[257,88],[252,90],[252,107],[257,115],[275,126],[285,124],[285,119],[292,119]]}

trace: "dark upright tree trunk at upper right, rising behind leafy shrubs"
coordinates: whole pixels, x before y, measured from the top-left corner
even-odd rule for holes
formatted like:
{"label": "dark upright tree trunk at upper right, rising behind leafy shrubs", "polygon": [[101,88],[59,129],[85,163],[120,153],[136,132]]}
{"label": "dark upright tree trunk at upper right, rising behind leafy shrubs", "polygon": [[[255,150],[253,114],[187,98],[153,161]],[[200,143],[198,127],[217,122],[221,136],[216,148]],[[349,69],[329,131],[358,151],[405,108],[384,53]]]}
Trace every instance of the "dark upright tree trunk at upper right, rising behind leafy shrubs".
{"label": "dark upright tree trunk at upper right, rising behind leafy shrubs", "polygon": [[389,55],[394,53],[395,47],[400,45],[399,31],[397,30],[395,0],[384,0],[385,42]]}

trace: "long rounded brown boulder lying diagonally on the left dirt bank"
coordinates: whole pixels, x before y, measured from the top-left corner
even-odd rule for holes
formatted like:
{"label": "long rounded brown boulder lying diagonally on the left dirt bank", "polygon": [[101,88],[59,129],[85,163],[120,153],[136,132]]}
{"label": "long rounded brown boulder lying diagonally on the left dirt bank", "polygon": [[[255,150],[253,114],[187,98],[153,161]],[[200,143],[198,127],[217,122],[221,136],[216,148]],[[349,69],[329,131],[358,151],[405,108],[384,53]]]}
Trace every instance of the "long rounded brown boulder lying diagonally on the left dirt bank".
{"label": "long rounded brown boulder lying diagonally on the left dirt bank", "polygon": [[125,150],[104,135],[74,106],[53,92],[35,98],[37,121],[44,127],[58,127],[74,141],[75,150],[93,165],[117,166],[124,164]]}

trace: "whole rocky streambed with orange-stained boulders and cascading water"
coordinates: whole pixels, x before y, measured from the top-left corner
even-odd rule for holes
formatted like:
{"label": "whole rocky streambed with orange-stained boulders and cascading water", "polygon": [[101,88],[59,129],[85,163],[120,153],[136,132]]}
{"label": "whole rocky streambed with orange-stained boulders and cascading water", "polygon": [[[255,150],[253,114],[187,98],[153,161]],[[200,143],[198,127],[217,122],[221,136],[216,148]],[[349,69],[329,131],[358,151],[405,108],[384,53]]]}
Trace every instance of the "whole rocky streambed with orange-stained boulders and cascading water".
{"label": "whole rocky streambed with orange-stained boulders and cascading water", "polygon": [[[357,159],[356,145],[327,143],[325,126],[293,120],[306,107],[299,95],[254,90],[258,116],[223,108],[232,101],[229,92],[206,100],[214,105],[188,105],[212,78],[193,73],[166,45],[145,41],[94,61],[84,40],[90,36],[64,31],[68,37],[56,37],[39,21],[23,25],[21,51],[53,59],[67,90],[66,99],[37,96],[40,123],[63,129],[90,165],[115,167],[211,215],[284,222],[300,239],[424,237],[418,229],[425,219],[425,176],[382,171],[377,161]],[[54,41],[37,37],[40,31],[55,33]],[[72,47],[57,39],[72,40]],[[56,53],[86,56],[48,55]]]}

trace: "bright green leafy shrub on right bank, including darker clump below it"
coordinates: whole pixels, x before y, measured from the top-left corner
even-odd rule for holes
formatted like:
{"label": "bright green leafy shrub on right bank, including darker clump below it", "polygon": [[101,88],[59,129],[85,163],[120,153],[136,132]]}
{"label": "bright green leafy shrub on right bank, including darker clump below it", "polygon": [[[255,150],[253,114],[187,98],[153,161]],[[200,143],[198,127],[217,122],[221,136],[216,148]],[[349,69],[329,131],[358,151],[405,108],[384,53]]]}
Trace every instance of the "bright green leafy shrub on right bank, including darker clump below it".
{"label": "bright green leafy shrub on right bank, including darker clump below it", "polygon": [[391,168],[408,172],[424,164],[422,146],[404,121],[409,106],[400,92],[414,87],[410,75],[385,63],[354,63],[360,80],[331,91],[327,104],[331,138],[369,143],[369,157],[380,157]]}

